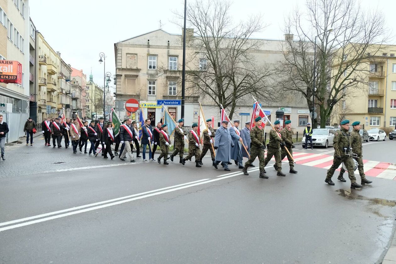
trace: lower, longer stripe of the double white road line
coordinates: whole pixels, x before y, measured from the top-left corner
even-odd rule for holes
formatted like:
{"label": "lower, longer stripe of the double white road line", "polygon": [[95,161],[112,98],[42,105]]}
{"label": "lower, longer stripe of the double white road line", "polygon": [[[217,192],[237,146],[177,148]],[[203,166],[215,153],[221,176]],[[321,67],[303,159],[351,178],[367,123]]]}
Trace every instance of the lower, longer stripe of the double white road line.
{"label": "lower, longer stripe of the double white road line", "polygon": [[174,192],[174,191],[177,191],[177,190],[182,190],[182,189],[185,189],[185,188],[189,188],[189,187],[193,187],[193,186],[197,186],[197,185],[201,185],[201,184],[206,184],[206,183],[209,183],[209,182],[215,182],[217,180],[223,180],[223,179],[227,179],[227,178],[234,177],[234,176],[235,175],[229,175],[229,176],[225,176],[225,177],[222,177],[222,178],[201,181],[201,182],[197,182],[197,183],[194,183],[194,184],[189,184],[189,185],[180,186],[180,187],[177,187],[177,188],[164,190],[164,191],[161,191],[161,192],[154,192],[152,194],[146,194],[146,195],[142,195],[142,196],[131,198],[131,199],[125,199],[125,200],[122,200],[122,201],[116,201],[114,203],[107,203],[105,205],[89,207],[89,208],[86,208],[86,209],[72,211],[72,212],[69,212],[69,213],[61,214],[61,215],[54,215],[54,216],[51,216],[51,217],[46,217],[46,218],[41,218],[41,219],[37,219],[37,220],[32,220],[32,221],[29,221],[29,222],[15,224],[15,225],[12,225],[12,226],[6,226],[6,227],[3,227],[3,228],[0,228],[0,232],[5,231],[5,230],[18,228],[18,227],[22,227],[22,226],[28,226],[28,225],[31,225],[31,224],[45,222],[45,221],[48,221],[48,220],[53,220],[53,219],[57,219],[57,218],[61,218],[61,217],[67,217],[67,216],[70,216],[70,215],[76,215],[76,214],[79,214],[79,213],[85,213],[85,212],[89,212],[89,211],[93,211],[93,210],[97,210],[97,209],[101,209],[101,208],[105,208],[105,207],[110,207],[110,206],[113,206],[113,205],[119,205],[119,204],[122,204],[122,203],[127,203],[127,202],[130,202],[130,201],[135,201],[135,200],[139,200],[139,199],[143,199],[143,198],[147,198],[147,197],[151,197],[151,196],[156,196],[156,195],[159,195],[159,194],[165,194],[165,193],[168,193],[168,192]]}

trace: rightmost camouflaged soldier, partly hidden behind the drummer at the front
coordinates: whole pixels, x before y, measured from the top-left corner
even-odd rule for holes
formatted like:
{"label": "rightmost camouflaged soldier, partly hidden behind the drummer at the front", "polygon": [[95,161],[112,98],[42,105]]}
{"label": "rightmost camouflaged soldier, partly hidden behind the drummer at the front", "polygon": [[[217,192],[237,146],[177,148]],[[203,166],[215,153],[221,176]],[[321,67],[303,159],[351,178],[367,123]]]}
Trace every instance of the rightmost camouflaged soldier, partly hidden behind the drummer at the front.
{"label": "rightmost camouflaged soldier, partly hidden behind the drummer at the front", "polygon": [[[358,161],[358,169],[359,169],[359,174],[360,174],[360,179],[362,179],[362,184],[368,184],[371,183],[371,180],[366,179],[366,175],[364,174],[364,168],[363,168],[363,148],[362,148],[362,136],[359,134],[360,131],[360,122],[355,121],[352,123],[353,130],[350,132],[350,143],[352,146],[352,152],[356,155],[357,157],[354,157],[356,161]],[[338,175],[338,180],[342,182],[346,182],[346,180],[343,177],[343,174],[345,173],[345,169],[341,167],[340,175]]]}

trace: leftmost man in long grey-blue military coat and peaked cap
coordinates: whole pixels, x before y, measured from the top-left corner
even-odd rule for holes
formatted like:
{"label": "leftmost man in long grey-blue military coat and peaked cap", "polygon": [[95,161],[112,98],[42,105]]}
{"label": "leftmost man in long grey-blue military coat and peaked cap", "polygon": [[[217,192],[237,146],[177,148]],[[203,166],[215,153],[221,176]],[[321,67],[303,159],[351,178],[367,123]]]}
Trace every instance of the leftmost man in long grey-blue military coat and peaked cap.
{"label": "leftmost man in long grey-blue military coat and peaked cap", "polygon": [[225,171],[230,171],[228,168],[228,161],[231,157],[231,148],[234,148],[234,142],[232,142],[230,131],[228,130],[228,121],[223,120],[221,122],[221,127],[216,130],[215,134],[215,150],[216,156],[215,161],[213,161],[213,166],[217,169],[217,165],[221,162]]}

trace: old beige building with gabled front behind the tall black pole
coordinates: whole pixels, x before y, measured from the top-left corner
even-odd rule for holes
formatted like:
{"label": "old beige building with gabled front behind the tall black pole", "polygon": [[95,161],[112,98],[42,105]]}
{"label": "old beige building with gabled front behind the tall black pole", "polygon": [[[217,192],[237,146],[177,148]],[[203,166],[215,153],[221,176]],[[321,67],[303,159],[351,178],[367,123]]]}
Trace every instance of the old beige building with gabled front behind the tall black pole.
{"label": "old beige building with gabled front behind the tall black pole", "polygon": [[[191,38],[192,29],[187,29],[186,38]],[[290,36],[289,36],[290,37]],[[284,40],[259,40],[260,50],[254,55],[258,61],[274,63],[282,60],[281,46]],[[162,116],[161,102],[166,102],[169,113],[175,120],[181,116],[181,68],[183,45],[181,34],[169,34],[162,29],[135,36],[114,44],[116,62],[116,105],[121,118],[138,118],[129,113],[123,105],[130,98],[137,99],[143,108],[145,118],[152,120],[152,125],[159,122]],[[187,44],[187,68],[205,70],[207,61],[204,58],[192,60],[195,51]],[[189,57],[191,56],[191,57]],[[214,127],[219,126],[220,111],[213,101],[196,95],[192,89],[186,89],[185,123],[190,125],[198,120],[200,106],[207,117],[214,116]],[[159,100],[159,101],[158,101]],[[285,118],[293,122],[293,127],[304,127],[308,122],[309,110],[303,100],[285,97],[280,103],[263,104],[262,108],[275,118],[276,110],[283,108]],[[246,122],[251,118],[253,100],[244,105],[238,105],[233,119]],[[299,128],[297,128],[299,129]]]}

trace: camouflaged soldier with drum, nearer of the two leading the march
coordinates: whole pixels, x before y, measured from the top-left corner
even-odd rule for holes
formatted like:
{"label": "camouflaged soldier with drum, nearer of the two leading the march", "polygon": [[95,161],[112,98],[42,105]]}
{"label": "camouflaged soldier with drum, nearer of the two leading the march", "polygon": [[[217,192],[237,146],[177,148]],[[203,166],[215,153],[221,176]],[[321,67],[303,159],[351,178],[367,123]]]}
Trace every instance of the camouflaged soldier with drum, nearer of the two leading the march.
{"label": "camouflaged soldier with drum, nearer of the two leading the march", "polygon": [[[334,160],[333,165],[331,165],[330,169],[327,170],[327,176],[325,182],[329,185],[334,185],[334,182],[331,180],[333,177],[334,171],[341,165],[341,163],[345,164],[346,169],[348,170],[348,176],[350,179],[350,188],[362,188],[362,185],[356,183],[355,172],[354,172],[354,161],[352,160],[352,151],[349,150],[350,144],[350,133],[349,133],[349,120],[343,120],[341,122],[341,130],[337,131],[334,135],[333,139],[333,147],[334,147]],[[349,154],[349,155],[348,155]]]}

